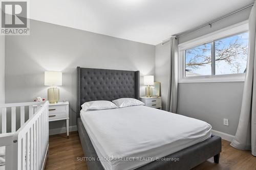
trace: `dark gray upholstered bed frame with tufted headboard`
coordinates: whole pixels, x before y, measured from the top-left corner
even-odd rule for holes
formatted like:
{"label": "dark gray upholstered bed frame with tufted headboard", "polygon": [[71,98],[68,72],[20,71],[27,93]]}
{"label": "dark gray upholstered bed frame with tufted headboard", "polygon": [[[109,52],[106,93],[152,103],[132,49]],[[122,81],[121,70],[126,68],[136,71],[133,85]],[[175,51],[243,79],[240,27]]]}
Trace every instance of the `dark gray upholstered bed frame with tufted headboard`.
{"label": "dark gray upholstered bed frame with tufted headboard", "polygon": [[[77,129],[86,157],[97,158],[98,156],[81,122],[81,104],[95,100],[112,101],[119,98],[139,99],[139,71],[77,67]],[[214,157],[215,163],[219,163],[220,152],[221,138],[212,135],[203,142],[137,169],[191,169],[211,157]],[[168,161],[170,158],[179,158],[179,161]],[[103,169],[97,159],[87,161],[87,165],[92,170]]]}

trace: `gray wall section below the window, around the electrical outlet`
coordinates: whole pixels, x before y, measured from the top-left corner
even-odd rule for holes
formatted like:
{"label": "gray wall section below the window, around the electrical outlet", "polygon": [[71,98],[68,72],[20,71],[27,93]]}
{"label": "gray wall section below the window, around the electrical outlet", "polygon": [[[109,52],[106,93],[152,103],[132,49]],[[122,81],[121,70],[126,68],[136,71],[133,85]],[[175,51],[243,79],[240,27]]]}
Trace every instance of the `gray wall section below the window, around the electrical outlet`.
{"label": "gray wall section below the window, around the electrical outlet", "polygon": [[[242,105],[243,82],[179,83],[178,113],[204,120],[212,129],[236,134]],[[229,119],[229,126],[223,125]]]}

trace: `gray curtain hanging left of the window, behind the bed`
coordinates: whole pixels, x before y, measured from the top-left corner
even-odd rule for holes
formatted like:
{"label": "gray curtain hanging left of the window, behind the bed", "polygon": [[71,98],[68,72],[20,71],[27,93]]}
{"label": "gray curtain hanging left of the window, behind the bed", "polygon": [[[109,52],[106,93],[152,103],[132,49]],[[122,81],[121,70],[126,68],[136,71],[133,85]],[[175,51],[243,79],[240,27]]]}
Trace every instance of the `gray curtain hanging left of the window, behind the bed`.
{"label": "gray curtain hanging left of the window, behind the bed", "polygon": [[166,111],[176,113],[178,100],[178,43],[170,37],[170,72]]}

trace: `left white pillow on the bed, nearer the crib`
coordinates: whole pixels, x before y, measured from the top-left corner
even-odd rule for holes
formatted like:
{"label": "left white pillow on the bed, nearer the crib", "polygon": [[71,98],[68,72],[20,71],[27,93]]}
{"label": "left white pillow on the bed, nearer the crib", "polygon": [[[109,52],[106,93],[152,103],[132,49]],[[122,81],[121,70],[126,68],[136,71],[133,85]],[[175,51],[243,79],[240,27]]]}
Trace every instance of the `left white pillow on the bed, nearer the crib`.
{"label": "left white pillow on the bed, nearer the crib", "polygon": [[82,109],[87,110],[104,110],[104,109],[115,109],[118,108],[114,103],[110,101],[91,101],[82,104]]}

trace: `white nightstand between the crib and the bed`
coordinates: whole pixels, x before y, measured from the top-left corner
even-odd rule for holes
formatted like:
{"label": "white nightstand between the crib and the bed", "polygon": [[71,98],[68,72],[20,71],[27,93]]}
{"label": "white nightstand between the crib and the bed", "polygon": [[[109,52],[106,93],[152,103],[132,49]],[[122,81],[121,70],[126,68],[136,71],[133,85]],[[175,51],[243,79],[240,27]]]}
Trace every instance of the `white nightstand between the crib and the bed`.
{"label": "white nightstand between the crib and the bed", "polygon": [[[36,111],[34,107],[34,112]],[[69,102],[58,102],[57,104],[49,104],[49,122],[66,120],[67,122],[67,138],[69,138]]]}

